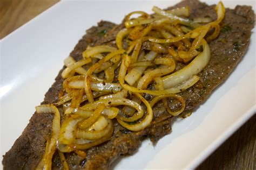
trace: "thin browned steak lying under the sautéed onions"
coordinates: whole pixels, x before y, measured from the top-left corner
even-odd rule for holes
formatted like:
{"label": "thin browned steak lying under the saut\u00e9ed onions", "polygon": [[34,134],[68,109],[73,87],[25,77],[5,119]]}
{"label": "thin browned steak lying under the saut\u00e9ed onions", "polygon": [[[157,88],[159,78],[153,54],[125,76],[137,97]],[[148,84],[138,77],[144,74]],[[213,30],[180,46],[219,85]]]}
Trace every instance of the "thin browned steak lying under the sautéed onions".
{"label": "thin browned steak lying under the saut\u00e9ed onions", "polygon": [[[181,6],[190,7],[191,18],[207,16],[212,20],[217,18],[214,6],[208,6],[198,1],[183,1],[172,8]],[[251,30],[254,27],[254,12],[250,6],[238,5],[234,10],[226,9],[225,18],[220,26],[221,32],[218,38],[209,43],[211,60],[207,67],[199,73],[200,80],[194,86],[179,93],[186,102],[184,114],[194,111],[205,102],[212,91],[227,79],[242,56],[245,55],[250,44]],[[98,26],[93,26],[86,31],[85,36],[79,40],[70,55],[78,61],[82,59],[82,52],[89,45],[115,46],[116,34],[123,27],[123,24],[99,22]],[[106,35],[102,36],[102,33],[105,32],[107,32]],[[179,64],[182,67],[183,64]],[[56,77],[55,83],[45,94],[42,104],[58,100],[63,83],[60,75],[62,70]],[[147,98],[150,98],[150,95]],[[59,108],[59,111],[63,116],[62,108]],[[151,125],[138,132],[126,130],[117,121],[113,121],[114,132],[111,139],[88,149],[86,159],[73,152],[65,153],[70,169],[107,169],[120,155],[129,155],[136,151],[143,139],[150,138],[156,143],[158,139],[171,132],[173,119],[162,103],[158,103],[153,108],[153,114]],[[37,167],[44,154],[46,139],[51,135],[52,119],[53,115],[51,114],[33,114],[22,135],[4,155],[2,161],[4,169],[35,169]],[[58,154],[53,156],[52,166],[54,169],[62,169]]]}

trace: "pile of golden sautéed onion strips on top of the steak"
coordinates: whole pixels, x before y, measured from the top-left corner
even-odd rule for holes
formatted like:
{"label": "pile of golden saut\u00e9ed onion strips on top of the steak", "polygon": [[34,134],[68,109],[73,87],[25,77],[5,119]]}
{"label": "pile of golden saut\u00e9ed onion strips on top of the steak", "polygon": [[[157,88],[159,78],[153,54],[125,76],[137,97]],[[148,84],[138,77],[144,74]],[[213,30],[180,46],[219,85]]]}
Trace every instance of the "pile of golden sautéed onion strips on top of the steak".
{"label": "pile of golden saut\u00e9ed onion strips on top of the steak", "polygon": [[[110,140],[114,119],[130,131],[145,129],[159,101],[172,116],[183,112],[185,101],[178,93],[193,86],[210,61],[207,42],[218,36],[225,8],[221,2],[216,5],[215,21],[188,19],[188,7],[162,10],[154,6],[152,10],[153,15],[129,13],[116,45],[89,46],[82,60],[65,59],[58,101],[36,107],[38,114],[55,114],[38,169],[51,169],[56,150],[66,169],[63,152],[86,158],[87,148]],[[177,69],[179,62],[186,66]],[[147,101],[145,94],[152,95],[152,100]],[[170,109],[168,98],[179,101],[181,107]]]}

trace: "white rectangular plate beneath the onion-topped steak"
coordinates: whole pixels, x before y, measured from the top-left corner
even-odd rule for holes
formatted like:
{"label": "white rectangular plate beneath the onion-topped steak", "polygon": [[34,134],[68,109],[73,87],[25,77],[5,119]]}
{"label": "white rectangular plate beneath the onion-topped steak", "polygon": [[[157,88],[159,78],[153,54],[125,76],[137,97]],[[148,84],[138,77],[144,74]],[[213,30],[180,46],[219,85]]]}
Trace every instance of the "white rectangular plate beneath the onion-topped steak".
{"label": "white rectangular plate beneath the onion-topped steak", "polygon": [[[21,135],[35,106],[43,101],[62,68],[64,58],[86,29],[101,19],[120,23],[131,11],[150,12],[153,5],[165,8],[173,4],[173,1],[62,1],[1,40],[1,155]],[[254,1],[224,1],[224,4],[231,8],[235,4],[249,4],[255,11]],[[155,147],[149,140],[144,141],[136,154],[118,160],[114,169],[194,168],[246,122],[256,108],[254,32],[255,29],[244,59],[206,103],[190,117],[177,120],[172,133],[160,139]]]}

